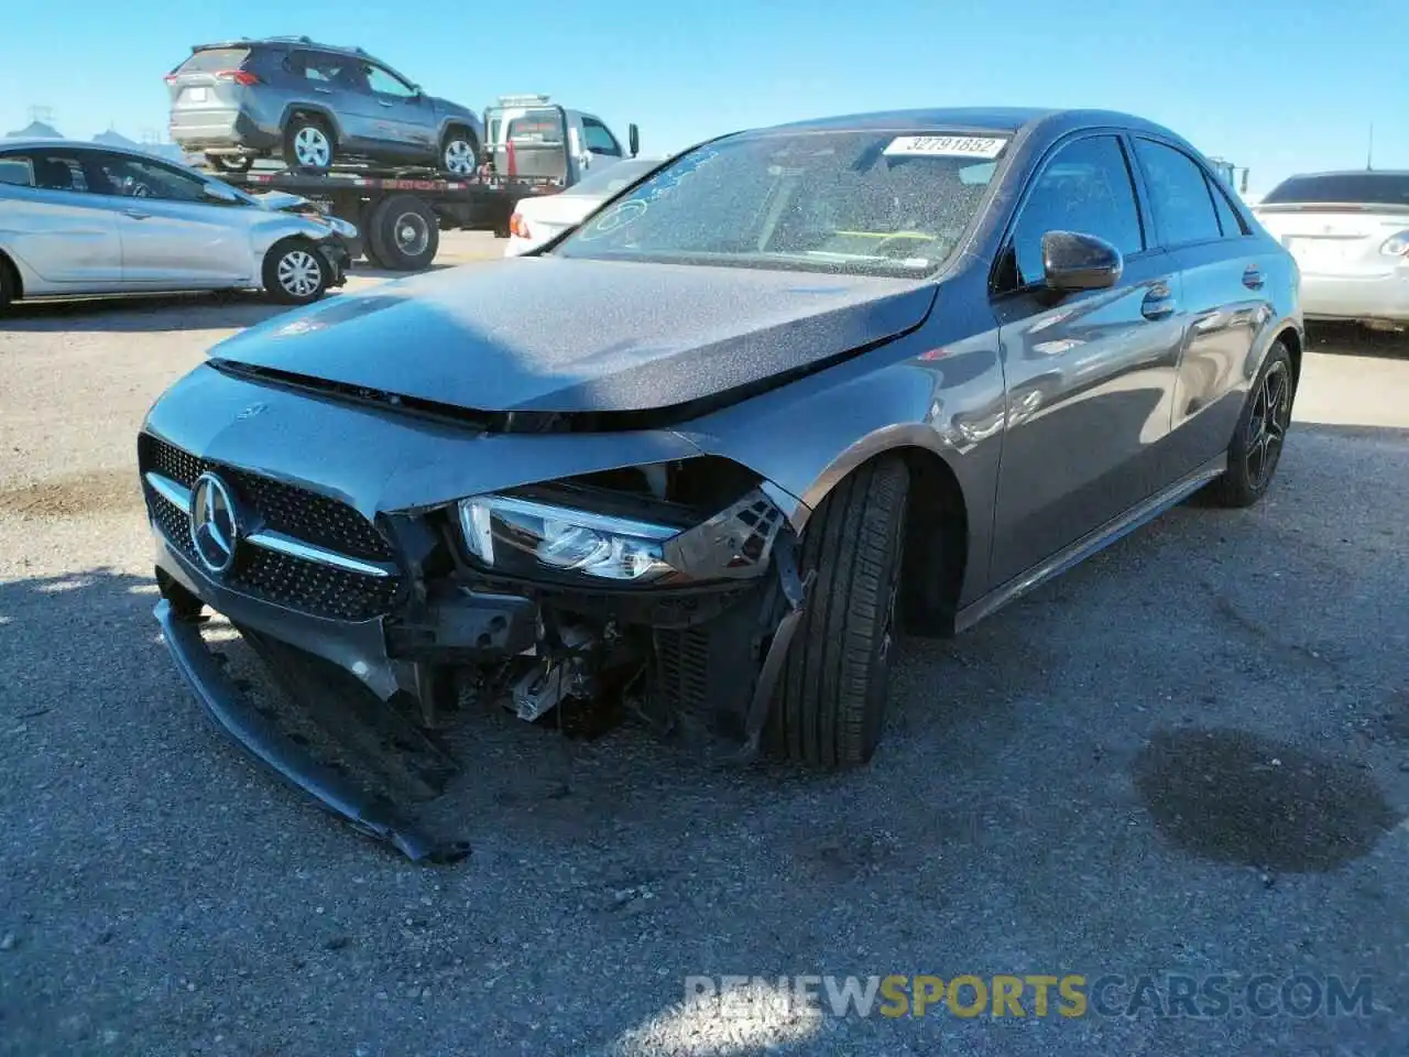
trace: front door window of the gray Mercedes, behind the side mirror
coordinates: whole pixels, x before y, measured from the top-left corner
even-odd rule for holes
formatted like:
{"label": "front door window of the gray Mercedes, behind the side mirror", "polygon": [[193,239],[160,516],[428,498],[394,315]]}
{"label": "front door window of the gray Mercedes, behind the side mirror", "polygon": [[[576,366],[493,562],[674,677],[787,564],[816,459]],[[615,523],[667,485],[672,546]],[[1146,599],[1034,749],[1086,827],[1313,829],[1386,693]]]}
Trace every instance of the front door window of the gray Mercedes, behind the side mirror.
{"label": "front door window of the gray Mercedes, behind the side mirror", "polygon": [[1020,286],[1043,280],[1043,235],[1048,231],[1096,235],[1122,254],[1144,249],[1130,166],[1116,137],[1076,140],[1043,168],[1013,233]]}

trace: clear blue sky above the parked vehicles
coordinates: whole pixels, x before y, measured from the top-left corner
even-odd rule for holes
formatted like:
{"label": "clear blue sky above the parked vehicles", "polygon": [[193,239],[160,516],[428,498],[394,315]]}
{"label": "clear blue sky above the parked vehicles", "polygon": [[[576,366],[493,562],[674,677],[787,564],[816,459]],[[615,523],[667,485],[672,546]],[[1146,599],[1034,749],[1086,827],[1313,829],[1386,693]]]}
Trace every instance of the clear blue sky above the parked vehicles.
{"label": "clear blue sky above the parked vehicles", "polygon": [[361,44],[482,109],[550,92],[647,151],[734,128],[931,104],[1096,106],[1251,168],[1409,168],[1402,0],[65,0],[15,3],[0,35],[0,132],[48,106],[68,135],[163,130],[162,75],[192,44],[309,34]]}

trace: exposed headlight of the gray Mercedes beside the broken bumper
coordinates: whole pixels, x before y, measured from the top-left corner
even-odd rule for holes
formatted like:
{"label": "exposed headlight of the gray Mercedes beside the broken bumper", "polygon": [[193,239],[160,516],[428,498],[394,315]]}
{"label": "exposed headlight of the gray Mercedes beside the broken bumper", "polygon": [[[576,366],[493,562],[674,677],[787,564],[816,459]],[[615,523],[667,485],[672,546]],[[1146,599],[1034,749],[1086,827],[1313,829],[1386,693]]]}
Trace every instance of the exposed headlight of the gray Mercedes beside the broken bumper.
{"label": "exposed headlight of the gray Mercedes beside the broken bumper", "polygon": [[480,565],[506,575],[566,574],[623,586],[758,576],[785,520],[758,489],[693,526],[513,495],[459,502],[465,547]]}

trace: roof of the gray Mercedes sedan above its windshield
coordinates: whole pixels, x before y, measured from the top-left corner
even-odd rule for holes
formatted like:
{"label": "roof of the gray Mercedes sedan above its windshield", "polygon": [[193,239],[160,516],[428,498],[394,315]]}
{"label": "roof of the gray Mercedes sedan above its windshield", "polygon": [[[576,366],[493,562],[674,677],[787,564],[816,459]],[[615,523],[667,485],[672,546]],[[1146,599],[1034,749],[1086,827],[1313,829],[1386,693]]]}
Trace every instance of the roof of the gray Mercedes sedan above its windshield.
{"label": "roof of the gray Mercedes sedan above its windshield", "polygon": [[1123,114],[1115,110],[1055,110],[1041,107],[931,107],[921,110],[882,110],[868,114],[845,114],[821,117],[810,121],[792,121],[772,128],[751,130],[768,132],[824,132],[843,130],[886,130],[886,131],[972,131],[1007,132],[1050,131],[1053,135],[1091,127],[1115,127],[1136,132],[1155,132],[1172,140],[1181,137],[1168,128],[1147,121],[1143,117]]}

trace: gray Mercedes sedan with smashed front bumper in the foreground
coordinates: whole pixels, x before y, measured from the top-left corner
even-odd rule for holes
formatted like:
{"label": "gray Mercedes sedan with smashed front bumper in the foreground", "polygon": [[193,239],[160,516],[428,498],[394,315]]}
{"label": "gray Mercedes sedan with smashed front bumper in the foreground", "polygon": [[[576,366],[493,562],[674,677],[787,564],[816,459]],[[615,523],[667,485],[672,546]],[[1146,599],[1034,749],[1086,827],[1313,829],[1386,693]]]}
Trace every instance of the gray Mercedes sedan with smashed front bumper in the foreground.
{"label": "gray Mercedes sedan with smashed front bumper in the foreground", "polygon": [[528,256],[211,350],[138,438],[158,616],[247,748],[454,858],[249,702],[207,610],[427,796],[475,702],[857,765],[898,629],[952,636],[1196,490],[1255,502],[1301,352],[1285,251],[1138,118],[730,135]]}

